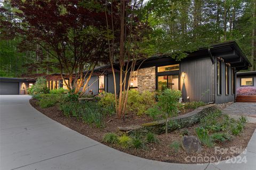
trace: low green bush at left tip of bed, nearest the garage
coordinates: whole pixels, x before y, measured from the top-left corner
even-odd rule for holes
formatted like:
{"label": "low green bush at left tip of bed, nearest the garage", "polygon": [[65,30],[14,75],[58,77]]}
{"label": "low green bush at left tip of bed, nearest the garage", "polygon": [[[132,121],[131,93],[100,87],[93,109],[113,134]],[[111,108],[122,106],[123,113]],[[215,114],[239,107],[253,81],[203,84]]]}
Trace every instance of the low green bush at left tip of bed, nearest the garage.
{"label": "low green bush at left tip of bed, nearest the garage", "polygon": [[58,103],[61,100],[60,95],[53,95],[53,94],[45,94],[45,95],[40,95],[38,98],[38,104],[42,108],[47,108],[54,106],[56,103]]}

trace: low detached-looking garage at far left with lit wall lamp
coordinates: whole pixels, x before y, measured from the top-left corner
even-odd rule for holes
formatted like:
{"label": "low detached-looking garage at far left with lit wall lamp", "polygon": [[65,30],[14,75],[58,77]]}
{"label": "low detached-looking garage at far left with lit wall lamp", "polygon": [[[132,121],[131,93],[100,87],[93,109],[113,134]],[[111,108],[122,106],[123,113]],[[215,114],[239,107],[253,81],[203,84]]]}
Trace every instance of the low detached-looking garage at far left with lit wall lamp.
{"label": "low detached-looking garage at far left with lit wall lamp", "polygon": [[19,78],[0,78],[0,95],[26,95],[27,88],[34,82]]}

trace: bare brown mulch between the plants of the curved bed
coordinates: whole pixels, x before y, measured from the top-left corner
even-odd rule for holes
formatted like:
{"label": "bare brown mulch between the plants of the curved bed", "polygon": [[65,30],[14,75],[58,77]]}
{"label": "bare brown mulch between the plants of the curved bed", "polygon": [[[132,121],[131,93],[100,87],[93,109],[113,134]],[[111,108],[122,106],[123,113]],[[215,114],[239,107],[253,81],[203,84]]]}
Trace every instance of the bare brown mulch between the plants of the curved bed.
{"label": "bare brown mulch between the plants of the curved bed", "polygon": [[[77,121],[75,117],[66,117],[63,115],[62,111],[59,110],[59,106],[53,106],[50,108],[41,108],[37,105],[36,99],[30,99],[30,104],[36,108],[39,112],[44,115],[52,118],[54,121],[57,121],[68,128],[77,131],[87,137],[94,139],[96,141],[102,142],[102,137],[105,133],[108,132],[117,132],[117,126],[130,126],[141,123],[151,122],[148,116],[137,116],[134,114],[129,114],[125,118],[125,121],[118,120],[116,115],[106,117],[104,122],[104,128],[95,128],[94,126],[83,123],[82,121]],[[181,113],[185,114],[185,113]],[[111,120],[111,121],[110,121]],[[191,126],[187,128],[189,135],[195,135],[194,128],[198,125]],[[196,154],[187,154],[183,149],[179,149],[178,152],[175,152],[169,145],[174,141],[181,140],[181,132],[183,129],[173,131],[168,134],[166,139],[165,134],[157,135],[159,143],[149,143],[143,149],[134,149],[134,148],[121,148],[118,145],[108,145],[112,148],[121,150],[131,155],[139,156],[142,158],[158,160],[162,162],[170,163],[183,163],[183,164],[196,164],[196,163],[207,163],[207,162],[217,162],[219,160],[226,160],[228,158],[239,155],[246,147],[247,144],[256,128],[256,124],[247,123],[243,132],[238,135],[236,138],[231,141],[226,141],[224,143],[216,143],[214,147],[228,148],[228,151],[225,154],[220,154],[215,152],[214,147],[208,148],[202,146],[202,151]],[[235,147],[237,152],[232,152],[230,147]],[[204,158],[209,158],[209,160]],[[203,158],[202,161],[194,162],[194,158]]]}

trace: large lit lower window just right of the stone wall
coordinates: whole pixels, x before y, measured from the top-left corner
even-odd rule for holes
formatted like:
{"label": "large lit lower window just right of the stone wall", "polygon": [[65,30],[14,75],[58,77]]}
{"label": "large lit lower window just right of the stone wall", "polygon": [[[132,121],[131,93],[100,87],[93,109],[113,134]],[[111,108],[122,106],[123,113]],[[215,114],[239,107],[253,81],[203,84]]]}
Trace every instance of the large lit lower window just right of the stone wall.
{"label": "large lit lower window just right of the stone wall", "polygon": [[179,75],[163,75],[157,77],[158,90],[165,90],[170,88],[173,90],[179,90]]}

